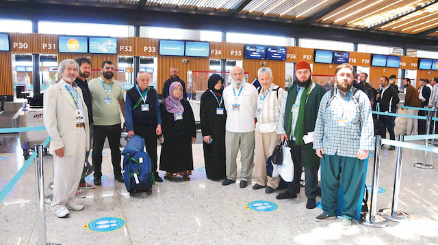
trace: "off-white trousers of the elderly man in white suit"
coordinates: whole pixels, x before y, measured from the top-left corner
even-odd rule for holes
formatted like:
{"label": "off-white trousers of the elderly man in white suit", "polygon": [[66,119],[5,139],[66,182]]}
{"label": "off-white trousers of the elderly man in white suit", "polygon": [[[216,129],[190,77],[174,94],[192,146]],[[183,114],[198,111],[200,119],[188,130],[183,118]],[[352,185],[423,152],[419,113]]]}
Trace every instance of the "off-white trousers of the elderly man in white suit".
{"label": "off-white trousers of the elderly man in white suit", "polygon": [[50,205],[53,211],[60,210],[75,199],[86,152],[84,128],[77,128],[77,134],[76,150],[72,155],[63,158],[53,155],[53,200]]}

